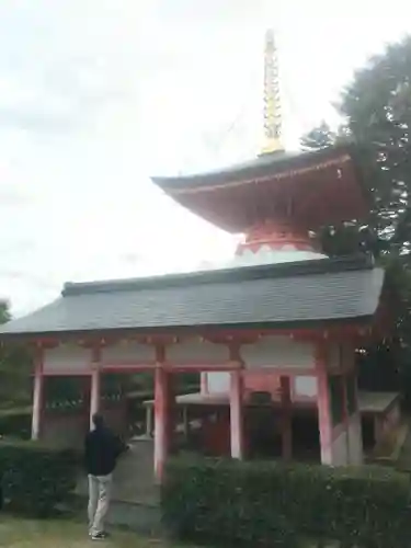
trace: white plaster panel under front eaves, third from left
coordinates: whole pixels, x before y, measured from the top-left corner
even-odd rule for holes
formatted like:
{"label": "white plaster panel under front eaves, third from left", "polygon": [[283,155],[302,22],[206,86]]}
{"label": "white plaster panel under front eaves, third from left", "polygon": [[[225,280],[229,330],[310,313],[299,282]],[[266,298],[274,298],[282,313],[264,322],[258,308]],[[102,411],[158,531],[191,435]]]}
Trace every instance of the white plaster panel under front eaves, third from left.
{"label": "white plaster panel under front eaves, third from left", "polygon": [[174,364],[225,364],[230,353],[226,344],[214,344],[199,339],[189,339],[165,349],[165,361]]}

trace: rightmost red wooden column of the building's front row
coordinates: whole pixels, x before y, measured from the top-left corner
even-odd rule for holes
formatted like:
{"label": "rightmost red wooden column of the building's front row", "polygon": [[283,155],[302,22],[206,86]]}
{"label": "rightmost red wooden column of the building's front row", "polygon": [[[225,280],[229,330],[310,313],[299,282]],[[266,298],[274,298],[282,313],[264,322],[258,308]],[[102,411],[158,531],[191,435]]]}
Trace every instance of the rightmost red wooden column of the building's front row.
{"label": "rightmost red wooden column of the building's front row", "polygon": [[332,464],[332,421],[330,391],[327,372],[327,346],[319,343],[316,349],[316,372],[318,386],[318,426],[320,430],[321,463]]}

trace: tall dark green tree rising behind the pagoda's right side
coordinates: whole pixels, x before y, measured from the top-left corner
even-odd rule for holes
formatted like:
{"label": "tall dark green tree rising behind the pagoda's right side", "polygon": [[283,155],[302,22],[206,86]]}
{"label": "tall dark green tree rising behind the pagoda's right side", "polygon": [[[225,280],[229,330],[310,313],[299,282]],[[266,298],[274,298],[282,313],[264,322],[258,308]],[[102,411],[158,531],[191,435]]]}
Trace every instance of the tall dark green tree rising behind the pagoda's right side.
{"label": "tall dark green tree rising behind the pagoda's right side", "polygon": [[[411,358],[411,37],[369,59],[343,90],[336,107],[342,116],[338,130],[322,123],[302,138],[301,146],[308,150],[354,145],[369,191],[369,215],[364,225],[326,227],[323,247],[329,254],[364,250],[384,263],[397,289],[396,329],[391,341],[368,349],[363,365],[373,368],[374,364],[375,372],[379,362],[389,364],[389,375],[395,369],[411,380],[407,367]],[[398,386],[401,376],[397,376]]]}

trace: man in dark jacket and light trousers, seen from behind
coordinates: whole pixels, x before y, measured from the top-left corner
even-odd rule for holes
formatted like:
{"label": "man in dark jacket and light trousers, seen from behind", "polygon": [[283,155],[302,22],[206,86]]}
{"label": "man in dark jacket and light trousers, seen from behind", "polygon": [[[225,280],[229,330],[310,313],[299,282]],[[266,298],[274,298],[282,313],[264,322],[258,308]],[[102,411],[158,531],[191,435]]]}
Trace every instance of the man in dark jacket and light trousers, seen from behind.
{"label": "man in dark jacket and light trousers, seen from behind", "polygon": [[110,505],[113,471],[123,453],[121,441],[93,415],[94,430],[85,437],[85,469],[89,475],[89,534],[92,540],[107,538],[105,517]]}

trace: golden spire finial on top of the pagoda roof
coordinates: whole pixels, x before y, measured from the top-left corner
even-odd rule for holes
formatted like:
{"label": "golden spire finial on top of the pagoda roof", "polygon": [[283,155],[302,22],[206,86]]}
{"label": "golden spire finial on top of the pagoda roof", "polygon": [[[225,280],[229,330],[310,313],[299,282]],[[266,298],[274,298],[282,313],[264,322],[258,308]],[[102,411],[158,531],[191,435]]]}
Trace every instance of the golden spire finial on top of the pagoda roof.
{"label": "golden spire finial on top of the pagoda roof", "polygon": [[264,147],[262,153],[284,150],[278,56],[274,31],[265,33],[264,48]]}

